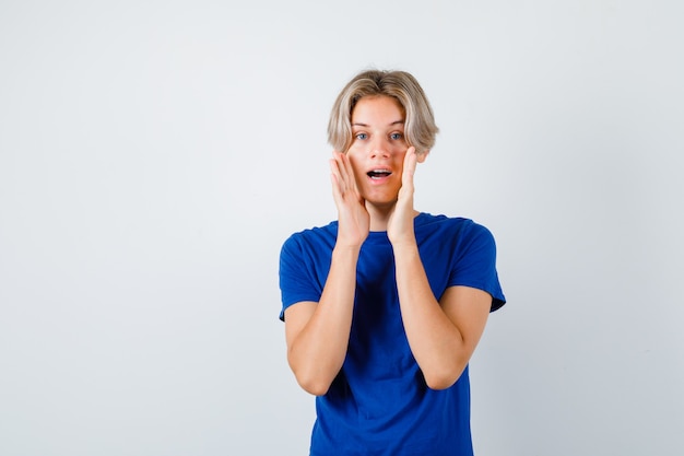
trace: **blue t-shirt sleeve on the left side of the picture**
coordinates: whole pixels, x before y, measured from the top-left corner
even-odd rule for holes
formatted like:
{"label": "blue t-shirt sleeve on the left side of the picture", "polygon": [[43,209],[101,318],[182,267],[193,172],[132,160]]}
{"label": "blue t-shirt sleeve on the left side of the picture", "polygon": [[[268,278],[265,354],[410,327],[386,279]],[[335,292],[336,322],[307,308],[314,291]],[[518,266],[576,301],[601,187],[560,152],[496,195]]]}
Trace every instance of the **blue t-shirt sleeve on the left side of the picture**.
{"label": "blue t-shirt sleeve on the left side of the picture", "polygon": [[307,261],[306,249],[297,235],[291,236],[281,249],[280,255],[280,289],[283,307],[280,319],[285,320],[285,309],[303,301],[318,302],[322,289],[312,270],[310,259]]}

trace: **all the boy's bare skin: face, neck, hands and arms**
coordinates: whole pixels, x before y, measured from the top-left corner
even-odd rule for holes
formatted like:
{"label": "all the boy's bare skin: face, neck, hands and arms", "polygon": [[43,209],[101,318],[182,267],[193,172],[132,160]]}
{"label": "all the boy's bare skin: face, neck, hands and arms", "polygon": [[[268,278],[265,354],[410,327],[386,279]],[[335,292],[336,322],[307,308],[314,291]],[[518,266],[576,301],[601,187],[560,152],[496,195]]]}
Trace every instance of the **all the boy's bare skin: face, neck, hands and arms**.
{"label": "all the boy's bare skin: face, neck, hands and arms", "polygon": [[[411,351],[427,386],[453,385],[484,331],[492,296],[451,287],[437,301],[415,241],[413,176],[427,152],[416,154],[404,138],[404,110],[392,97],[361,98],[352,113],[354,141],[330,160],[339,231],[318,303],[285,311],[287,361],[299,385],[323,395],[340,372],[350,338],[356,262],[370,231],[387,231],[396,262],[399,303]],[[372,178],[372,171],[391,174]]]}

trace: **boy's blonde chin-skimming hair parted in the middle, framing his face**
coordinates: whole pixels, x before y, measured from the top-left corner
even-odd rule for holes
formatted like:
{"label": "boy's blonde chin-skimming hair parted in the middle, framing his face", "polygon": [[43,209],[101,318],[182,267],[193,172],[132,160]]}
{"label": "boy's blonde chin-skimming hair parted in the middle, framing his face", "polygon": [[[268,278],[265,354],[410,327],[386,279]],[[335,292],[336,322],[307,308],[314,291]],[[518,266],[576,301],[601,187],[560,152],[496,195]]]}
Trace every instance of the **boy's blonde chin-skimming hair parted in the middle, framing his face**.
{"label": "boy's blonde chin-skimming hair parted in the middle, framing his face", "polygon": [[416,79],[405,71],[367,70],[356,74],[340,92],[330,113],[328,142],[340,152],[352,144],[352,112],[364,96],[391,96],[405,115],[404,135],[409,145],[425,153],[435,145],[439,131],[429,102]]}

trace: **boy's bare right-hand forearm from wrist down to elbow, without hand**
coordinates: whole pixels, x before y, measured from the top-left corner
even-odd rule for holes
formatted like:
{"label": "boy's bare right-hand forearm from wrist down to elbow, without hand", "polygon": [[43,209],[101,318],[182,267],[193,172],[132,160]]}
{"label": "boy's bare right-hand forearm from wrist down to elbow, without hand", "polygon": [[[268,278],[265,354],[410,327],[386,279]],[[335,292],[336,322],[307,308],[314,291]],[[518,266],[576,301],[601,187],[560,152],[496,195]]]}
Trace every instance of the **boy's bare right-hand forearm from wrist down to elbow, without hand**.
{"label": "boy's bare right-hand forearm from wrist down to elbow, without hand", "polygon": [[415,243],[394,246],[397,289],[411,351],[427,385],[451,386],[461,375],[471,352],[459,328],[435,299]]}

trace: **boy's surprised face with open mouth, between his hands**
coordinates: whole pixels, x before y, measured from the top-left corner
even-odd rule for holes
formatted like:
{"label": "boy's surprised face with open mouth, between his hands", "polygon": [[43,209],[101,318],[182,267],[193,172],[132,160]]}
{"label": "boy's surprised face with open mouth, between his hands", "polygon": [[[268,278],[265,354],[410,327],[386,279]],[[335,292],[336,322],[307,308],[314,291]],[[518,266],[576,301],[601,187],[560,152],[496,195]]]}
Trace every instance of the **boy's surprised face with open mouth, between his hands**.
{"label": "boy's surprised face with open mouth, between his hands", "polygon": [[[401,188],[405,114],[389,96],[361,98],[352,112],[352,145],[346,152],[356,185],[367,203],[392,206]],[[422,157],[418,155],[418,161]]]}

